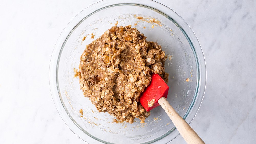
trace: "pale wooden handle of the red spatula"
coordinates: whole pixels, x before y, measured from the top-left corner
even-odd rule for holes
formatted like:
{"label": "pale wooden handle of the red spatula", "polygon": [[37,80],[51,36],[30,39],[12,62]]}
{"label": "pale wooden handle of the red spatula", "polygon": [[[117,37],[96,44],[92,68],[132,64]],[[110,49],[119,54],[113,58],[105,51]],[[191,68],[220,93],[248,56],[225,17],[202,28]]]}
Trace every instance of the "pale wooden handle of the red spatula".
{"label": "pale wooden handle of the red spatula", "polygon": [[189,126],[189,124],[174,110],[169,102],[161,97],[158,103],[163,107],[167,115],[173,121],[173,124],[178,129],[180,135],[187,143],[204,143],[197,133]]}

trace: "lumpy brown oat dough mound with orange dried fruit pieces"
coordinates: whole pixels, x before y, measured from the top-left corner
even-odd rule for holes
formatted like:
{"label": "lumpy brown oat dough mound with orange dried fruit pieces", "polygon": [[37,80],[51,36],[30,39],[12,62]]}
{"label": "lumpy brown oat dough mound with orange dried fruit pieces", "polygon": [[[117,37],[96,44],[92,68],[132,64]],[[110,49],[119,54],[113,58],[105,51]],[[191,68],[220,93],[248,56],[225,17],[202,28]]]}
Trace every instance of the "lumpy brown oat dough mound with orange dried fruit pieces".
{"label": "lumpy brown oat dough mound with orange dried fruit pieces", "polygon": [[150,115],[139,103],[140,94],[151,81],[151,73],[168,82],[164,51],[147,41],[136,28],[114,26],[86,46],[80,57],[79,83],[99,112],[119,121],[144,123]]}

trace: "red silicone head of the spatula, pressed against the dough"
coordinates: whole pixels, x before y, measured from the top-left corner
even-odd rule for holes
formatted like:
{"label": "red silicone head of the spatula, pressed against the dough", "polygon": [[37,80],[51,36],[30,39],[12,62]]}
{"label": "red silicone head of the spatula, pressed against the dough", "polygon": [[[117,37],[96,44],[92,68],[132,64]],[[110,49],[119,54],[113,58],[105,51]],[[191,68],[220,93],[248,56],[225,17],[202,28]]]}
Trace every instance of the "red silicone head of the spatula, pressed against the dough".
{"label": "red silicone head of the spatula, pressed against the dough", "polygon": [[159,106],[158,99],[161,97],[167,98],[169,91],[168,85],[164,82],[161,76],[153,73],[151,78],[150,84],[145,88],[140,97],[140,103],[146,111],[150,111]]}

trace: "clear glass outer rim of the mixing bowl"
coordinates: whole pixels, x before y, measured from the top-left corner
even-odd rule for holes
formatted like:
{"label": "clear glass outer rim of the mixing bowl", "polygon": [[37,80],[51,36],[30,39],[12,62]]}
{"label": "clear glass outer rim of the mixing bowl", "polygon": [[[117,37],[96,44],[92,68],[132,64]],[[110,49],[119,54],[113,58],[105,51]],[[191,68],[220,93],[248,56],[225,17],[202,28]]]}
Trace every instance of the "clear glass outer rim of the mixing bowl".
{"label": "clear glass outer rim of the mixing bowl", "polygon": [[[194,34],[193,30],[189,27],[189,25],[185,22],[185,20],[180,17],[177,13],[175,13],[172,9],[168,8],[167,6],[164,6],[161,3],[158,3],[153,0],[119,0],[116,2],[115,0],[102,0],[97,3],[94,3],[90,5],[89,7],[85,8],[80,12],[78,15],[76,15],[64,28],[64,30],[61,32],[54,50],[52,52],[51,61],[50,61],[50,68],[49,68],[49,83],[50,83],[50,90],[52,99],[54,101],[54,104],[58,110],[58,113],[60,114],[62,120],[65,122],[65,124],[73,131],[78,137],[80,137],[82,140],[86,142],[100,142],[100,143],[109,143],[103,140],[100,140],[89,133],[83,131],[78,124],[76,124],[75,121],[72,120],[72,117],[69,116],[66,107],[62,104],[60,92],[58,89],[58,62],[59,57],[62,52],[62,48],[65,45],[66,40],[68,39],[69,35],[72,33],[72,31],[76,28],[77,25],[80,24],[82,20],[89,17],[91,14],[97,12],[98,10],[101,10],[106,7],[112,7],[117,5],[135,5],[135,6],[141,6],[146,7],[149,9],[157,10],[158,13],[161,13],[162,15],[166,16],[169,20],[176,23],[177,27],[183,32],[185,37],[187,38],[193,53],[194,57],[197,62],[197,87],[196,91],[194,93],[194,97],[192,99],[192,102],[190,104],[190,107],[188,108],[185,116],[183,117],[188,124],[191,123],[191,121],[195,118],[195,115],[197,114],[200,105],[202,103],[202,99],[204,97],[205,93],[205,87],[206,87],[206,63],[204,58],[204,53],[201,49],[200,43]],[[161,10],[159,10],[161,9]],[[170,15],[170,16],[169,16]],[[175,18],[174,18],[175,17]],[[175,19],[175,20],[174,20]],[[195,110],[194,110],[195,109]],[[194,110],[194,111],[193,111]],[[189,115],[192,115],[190,119],[186,119]],[[75,125],[74,125],[75,124]],[[175,135],[171,138],[168,138],[167,136],[171,134],[172,132],[175,133]],[[82,137],[84,137],[84,133],[87,134],[86,140]],[[175,127],[173,127],[170,131],[168,131],[166,134],[164,134],[161,137],[158,137],[152,141],[148,141],[146,143],[155,143],[155,142],[164,142],[167,143],[174,138],[176,138],[179,135],[179,132]]]}

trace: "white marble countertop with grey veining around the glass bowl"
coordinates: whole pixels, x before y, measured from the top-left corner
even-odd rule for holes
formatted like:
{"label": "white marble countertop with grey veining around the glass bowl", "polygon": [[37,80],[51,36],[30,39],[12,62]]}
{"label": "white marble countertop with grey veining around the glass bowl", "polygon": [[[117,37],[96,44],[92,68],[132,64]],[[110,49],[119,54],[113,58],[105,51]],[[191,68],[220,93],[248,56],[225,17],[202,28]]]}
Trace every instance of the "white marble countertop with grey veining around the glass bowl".
{"label": "white marble countertop with grey veining around the glass bowl", "polygon": [[[0,2],[0,143],[85,143],[59,116],[48,72],[61,31],[94,2]],[[191,127],[206,143],[255,143],[256,2],[159,2],[185,19],[205,54],[206,92]]]}

